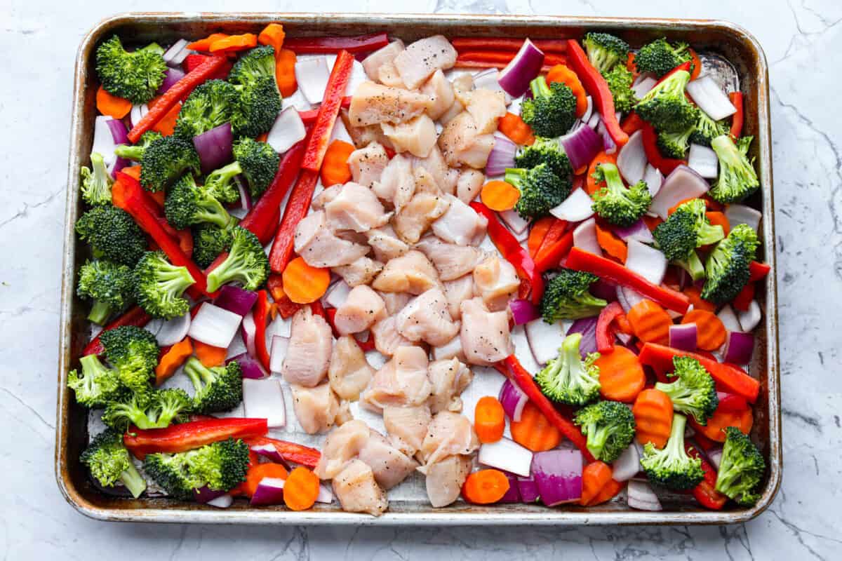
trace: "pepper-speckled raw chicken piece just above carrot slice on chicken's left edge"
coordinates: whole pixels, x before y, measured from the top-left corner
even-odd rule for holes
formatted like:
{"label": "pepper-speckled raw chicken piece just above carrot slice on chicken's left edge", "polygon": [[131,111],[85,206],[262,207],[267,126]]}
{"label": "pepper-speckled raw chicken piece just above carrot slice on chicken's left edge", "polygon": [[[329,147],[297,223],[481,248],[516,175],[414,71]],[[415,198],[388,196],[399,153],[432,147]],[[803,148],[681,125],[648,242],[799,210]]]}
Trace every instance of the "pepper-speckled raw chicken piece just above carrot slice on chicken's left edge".
{"label": "pepper-speckled raw chicken piece just above carrot slice on chicken's left edge", "polygon": [[336,236],[319,210],[296,226],[295,250],[311,267],[339,267],[365,256],[369,247]]}

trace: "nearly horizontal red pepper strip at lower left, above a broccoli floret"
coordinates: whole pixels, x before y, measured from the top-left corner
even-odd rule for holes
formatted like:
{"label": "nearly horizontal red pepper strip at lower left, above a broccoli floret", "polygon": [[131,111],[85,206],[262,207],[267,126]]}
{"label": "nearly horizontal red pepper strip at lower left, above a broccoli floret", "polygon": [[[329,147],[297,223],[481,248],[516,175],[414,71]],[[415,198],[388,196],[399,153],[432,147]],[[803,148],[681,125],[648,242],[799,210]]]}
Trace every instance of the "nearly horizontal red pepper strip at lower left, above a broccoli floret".
{"label": "nearly horizontal red pepper strip at lower left, above a broccoli floret", "polygon": [[268,431],[265,419],[226,417],[190,421],[163,429],[141,430],[131,426],[123,435],[123,444],[132,455],[142,460],[151,453],[187,452],[227,438],[262,437]]}

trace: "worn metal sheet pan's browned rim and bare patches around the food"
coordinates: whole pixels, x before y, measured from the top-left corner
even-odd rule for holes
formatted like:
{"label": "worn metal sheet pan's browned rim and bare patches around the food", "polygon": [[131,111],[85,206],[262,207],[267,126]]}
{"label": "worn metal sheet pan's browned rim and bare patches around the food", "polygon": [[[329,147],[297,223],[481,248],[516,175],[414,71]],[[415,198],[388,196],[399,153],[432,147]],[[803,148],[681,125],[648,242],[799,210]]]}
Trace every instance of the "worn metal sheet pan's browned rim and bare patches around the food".
{"label": "worn metal sheet pan's browned rim and bare patches around the food", "polygon": [[[749,201],[763,212],[760,235],[764,246],[760,257],[775,266],[775,225],[772,197],[772,167],[769,125],[769,77],[763,51],[745,30],[720,21],[678,19],[600,19],[566,17],[519,17],[475,15],[386,15],[306,13],[129,13],[97,24],[80,45],[77,54],[72,130],[67,182],[65,251],[61,285],[61,322],[58,361],[58,403],[56,407],[56,480],[67,501],[86,516],[108,521],[216,522],[239,524],[722,524],[746,521],[770,505],[781,481],[781,405],[777,340],[775,275],[759,291],[763,321],[757,330],[757,344],[750,372],[759,378],[760,398],[754,405],[754,438],[762,448],[769,470],[757,505],[750,509],[703,511],[685,495],[662,495],[661,512],[633,511],[623,497],[608,504],[579,508],[568,505],[548,509],[538,505],[493,507],[457,502],[445,509],[429,506],[424,480],[413,476],[389,493],[386,515],[374,518],[342,512],[338,505],[317,505],[312,511],[291,512],[282,507],[251,509],[236,500],[226,510],[169,500],[163,497],[131,498],[104,495],[88,479],[78,462],[88,442],[88,415],[76,405],[67,390],[67,372],[77,367],[77,357],[88,340],[87,309],[74,290],[77,267],[88,257],[86,248],[73,234],[72,225],[82,210],[78,197],[78,169],[87,163],[93,140],[96,74],[93,52],[104,37],[117,33],[127,42],[168,42],[180,37],[203,37],[215,31],[255,32],[271,21],[283,22],[289,36],[327,34],[353,35],[386,30],[404,41],[430,34],[447,36],[493,36],[536,38],[580,37],[591,29],[621,35],[633,47],[667,35],[690,42],[702,54],[704,71],[714,73],[729,88],[745,96],[745,131],[755,136],[752,146],[757,159],[761,193]],[[515,334],[518,346],[525,345]],[[497,394],[502,383],[497,373],[478,368],[472,385],[463,394],[465,413],[471,416],[476,400]],[[277,436],[318,444],[297,426],[287,394],[290,426]],[[235,412],[236,413],[236,412]],[[358,413],[358,410],[354,410]],[[360,413],[365,421],[382,430],[376,415]],[[90,426],[95,433],[97,427]]]}

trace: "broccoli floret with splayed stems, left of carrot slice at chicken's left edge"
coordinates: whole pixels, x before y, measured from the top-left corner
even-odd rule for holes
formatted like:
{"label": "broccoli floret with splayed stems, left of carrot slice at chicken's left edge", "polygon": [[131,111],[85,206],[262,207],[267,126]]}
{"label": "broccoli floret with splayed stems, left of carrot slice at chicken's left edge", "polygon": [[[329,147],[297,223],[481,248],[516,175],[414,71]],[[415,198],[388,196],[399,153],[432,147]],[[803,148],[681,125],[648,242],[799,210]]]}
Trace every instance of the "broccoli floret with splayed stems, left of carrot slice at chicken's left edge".
{"label": "broccoli floret with splayed stems, left of carrot slice at chicken's left edge", "polygon": [[249,230],[234,226],[231,236],[228,257],[208,274],[208,290],[213,292],[232,281],[242,283],[246,290],[257,290],[269,277],[269,258],[258,236]]}

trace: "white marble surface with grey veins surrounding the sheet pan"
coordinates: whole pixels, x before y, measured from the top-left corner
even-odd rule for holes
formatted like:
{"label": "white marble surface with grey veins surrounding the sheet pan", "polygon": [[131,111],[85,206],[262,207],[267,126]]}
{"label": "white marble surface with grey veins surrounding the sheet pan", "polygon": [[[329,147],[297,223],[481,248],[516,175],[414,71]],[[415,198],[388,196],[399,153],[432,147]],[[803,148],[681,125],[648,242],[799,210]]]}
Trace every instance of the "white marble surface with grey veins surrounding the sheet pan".
{"label": "white marble surface with grey veins surrounding the sheet pan", "polygon": [[[736,527],[354,529],[104,524],[59,495],[52,468],[61,231],[72,65],[83,34],[129,10],[567,13],[727,19],[770,62],[780,270],[784,478]],[[842,558],[838,514],[842,145],[835,0],[0,0],[0,552],[44,558]]]}

